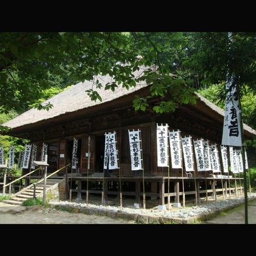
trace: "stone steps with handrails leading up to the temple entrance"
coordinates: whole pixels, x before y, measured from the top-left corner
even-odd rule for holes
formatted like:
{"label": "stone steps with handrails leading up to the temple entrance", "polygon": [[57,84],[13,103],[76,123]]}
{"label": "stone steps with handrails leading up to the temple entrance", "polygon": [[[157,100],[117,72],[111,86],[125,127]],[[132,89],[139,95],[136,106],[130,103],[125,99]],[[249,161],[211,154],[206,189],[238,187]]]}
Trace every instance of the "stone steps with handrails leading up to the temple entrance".
{"label": "stone steps with handrails leading up to the temple entrance", "polygon": [[[53,189],[58,186],[58,183],[62,179],[46,179],[46,192],[47,190]],[[3,200],[4,203],[10,203],[11,205],[22,205],[23,201],[33,198],[35,193],[35,198],[43,197],[43,181],[33,183],[18,193],[14,194],[10,199]]]}

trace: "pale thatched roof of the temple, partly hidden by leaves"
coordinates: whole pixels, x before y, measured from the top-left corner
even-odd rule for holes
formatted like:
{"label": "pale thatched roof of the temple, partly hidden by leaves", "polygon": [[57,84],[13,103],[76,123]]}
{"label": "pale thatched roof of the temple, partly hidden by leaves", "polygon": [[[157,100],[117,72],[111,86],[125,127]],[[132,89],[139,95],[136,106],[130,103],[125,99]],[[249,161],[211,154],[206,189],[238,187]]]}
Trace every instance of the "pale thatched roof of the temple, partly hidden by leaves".
{"label": "pale thatched roof of the temple, partly hidden by leaves", "polygon": [[[145,69],[146,68],[141,67],[140,70],[133,73],[134,76],[139,77],[143,74],[143,71]],[[122,97],[124,95],[134,93],[135,91],[138,91],[139,89],[147,86],[146,82],[141,82],[139,84],[137,83],[136,87],[131,87],[129,90],[127,90],[125,87],[122,87],[120,85],[116,87],[113,93],[110,90],[104,89],[104,85],[108,82],[113,82],[113,78],[109,77],[109,75],[99,75],[97,76],[97,79],[99,79],[99,82],[101,82],[103,85],[101,89],[96,89],[96,85],[93,83],[93,81],[85,81],[83,83],[80,82],[77,85],[71,86],[69,89],[62,91],[61,93],[45,101],[50,102],[53,105],[50,110],[37,110],[33,108],[19,115],[18,117],[7,121],[6,123],[3,123],[2,125],[15,129],[18,127],[31,125],[40,121],[50,120],[59,117],[60,115],[65,115],[68,113],[73,114],[78,110],[83,110],[89,107],[101,105],[103,103],[111,102],[114,99],[118,99],[119,97]],[[101,95],[102,101],[91,101],[90,97],[86,93],[86,90],[91,88],[98,91],[99,95]],[[196,93],[196,95],[199,98],[198,101],[203,103],[203,105],[205,105],[208,109],[212,110],[214,113],[217,113],[224,118],[225,113],[223,109],[214,105],[202,95],[198,93]],[[244,124],[243,127],[244,130],[247,131],[247,133],[256,135],[256,131],[250,126]]]}

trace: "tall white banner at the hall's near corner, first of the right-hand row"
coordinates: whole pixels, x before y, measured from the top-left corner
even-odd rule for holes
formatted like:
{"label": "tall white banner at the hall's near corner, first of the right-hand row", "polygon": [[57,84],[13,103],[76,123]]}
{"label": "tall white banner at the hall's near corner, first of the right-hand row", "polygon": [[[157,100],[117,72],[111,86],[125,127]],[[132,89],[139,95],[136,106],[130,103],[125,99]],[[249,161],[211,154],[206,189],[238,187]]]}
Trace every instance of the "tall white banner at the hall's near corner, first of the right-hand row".
{"label": "tall white banner at the hall's near corner, first of the right-hand row", "polygon": [[168,125],[157,123],[157,166],[169,166],[168,154]]}

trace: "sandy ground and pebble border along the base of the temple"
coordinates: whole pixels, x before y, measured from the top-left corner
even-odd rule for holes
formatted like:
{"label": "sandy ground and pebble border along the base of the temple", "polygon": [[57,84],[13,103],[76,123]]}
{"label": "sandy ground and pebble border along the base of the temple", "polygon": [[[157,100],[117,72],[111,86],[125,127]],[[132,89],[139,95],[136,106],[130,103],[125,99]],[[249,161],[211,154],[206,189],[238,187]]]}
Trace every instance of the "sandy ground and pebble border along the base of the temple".
{"label": "sandy ground and pebble border along the base of the temple", "polygon": [[[249,199],[249,223],[256,223],[256,193],[248,194]],[[225,200],[218,197],[217,201],[208,199],[205,202],[201,198],[198,206],[186,203],[186,207],[171,207],[170,210],[159,210],[157,206],[150,205],[153,201],[146,202],[146,209],[135,208],[133,200],[126,199],[126,204],[118,206],[101,205],[99,201],[93,203],[51,201],[51,206],[65,207],[67,211],[55,209],[54,207],[42,206],[13,206],[0,202],[0,224],[134,224],[134,223],[199,223],[194,218],[203,216],[209,219],[201,223],[244,223],[244,207],[234,211],[233,215],[220,216],[210,219],[219,211],[231,209],[242,205],[244,197],[231,197]],[[86,214],[85,214],[86,213]],[[229,216],[229,217],[228,217]],[[224,218],[225,217],[225,218]]]}

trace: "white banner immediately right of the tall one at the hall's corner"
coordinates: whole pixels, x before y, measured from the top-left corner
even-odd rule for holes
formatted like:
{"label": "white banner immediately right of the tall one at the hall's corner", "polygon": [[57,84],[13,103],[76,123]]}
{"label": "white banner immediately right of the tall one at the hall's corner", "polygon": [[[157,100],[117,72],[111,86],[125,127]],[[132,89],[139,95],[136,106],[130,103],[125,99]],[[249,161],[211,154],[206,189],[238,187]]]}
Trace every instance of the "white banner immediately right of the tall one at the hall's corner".
{"label": "white banner immediately right of the tall one at the hall's corner", "polygon": [[181,135],[179,130],[169,131],[169,142],[171,151],[171,167],[174,169],[182,168]]}

